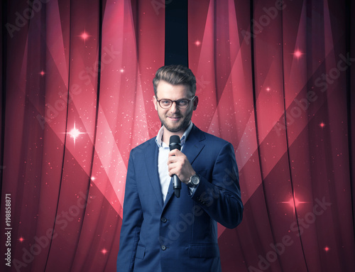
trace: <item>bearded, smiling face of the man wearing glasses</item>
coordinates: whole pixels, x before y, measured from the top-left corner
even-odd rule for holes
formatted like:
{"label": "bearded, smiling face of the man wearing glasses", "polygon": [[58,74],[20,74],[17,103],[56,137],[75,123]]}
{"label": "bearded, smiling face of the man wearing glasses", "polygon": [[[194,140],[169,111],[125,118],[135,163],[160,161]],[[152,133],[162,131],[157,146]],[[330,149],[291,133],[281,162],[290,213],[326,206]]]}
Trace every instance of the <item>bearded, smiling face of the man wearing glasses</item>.
{"label": "bearded, smiling face of the man wearing glasses", "polygon": [[[160,80],[157,87],[157,97],[160,99],[170,99],[176,101],[178,99],[192,99],[193,94],[190,92],[190,87],[186,85],[171,85],[168,82]],[[190,124],[192,111],[197,107],[197,97],[192,100],[186,109],[179,109],[176,103],[173,102],[169,109],[163,109],[159,106],[157,98],[153,97],[155,109],[158,111],[158,116],[165,126],[165,129],[173,133],[183,133]]]}

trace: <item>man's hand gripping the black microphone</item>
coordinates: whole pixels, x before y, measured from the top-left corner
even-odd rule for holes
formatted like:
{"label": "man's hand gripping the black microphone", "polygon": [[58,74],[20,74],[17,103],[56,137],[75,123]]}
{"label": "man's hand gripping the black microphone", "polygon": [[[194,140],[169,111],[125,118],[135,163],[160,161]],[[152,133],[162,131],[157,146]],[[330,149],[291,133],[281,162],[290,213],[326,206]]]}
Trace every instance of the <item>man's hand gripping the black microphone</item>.
{"label": "man's hand gripping the black microphone", "polygon": [[168,154],[168,170],[170,177],[177,175],[185,184],[189,183],[192,175],[196,174],[185,154],[178,149],[173,149]]}

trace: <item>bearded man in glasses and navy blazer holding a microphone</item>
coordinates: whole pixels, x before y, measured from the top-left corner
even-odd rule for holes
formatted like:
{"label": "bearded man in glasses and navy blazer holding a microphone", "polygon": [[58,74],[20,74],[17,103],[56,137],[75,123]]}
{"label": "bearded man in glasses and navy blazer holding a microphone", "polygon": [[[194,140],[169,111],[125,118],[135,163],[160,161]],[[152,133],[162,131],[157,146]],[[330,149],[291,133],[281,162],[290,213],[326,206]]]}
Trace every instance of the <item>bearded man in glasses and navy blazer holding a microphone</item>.
{"label": "bearded man in glasses and navy blazer holding a microphone", "polygon": [[[198,98],[190,69],[160,67],[153,87],[163,126],[131,151],[117,271],[221,271],[217,222],[234,228],[243,214],[234,148],[192,124]],[[172,135],[181,151],[169,150]]]}

